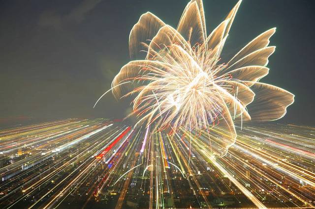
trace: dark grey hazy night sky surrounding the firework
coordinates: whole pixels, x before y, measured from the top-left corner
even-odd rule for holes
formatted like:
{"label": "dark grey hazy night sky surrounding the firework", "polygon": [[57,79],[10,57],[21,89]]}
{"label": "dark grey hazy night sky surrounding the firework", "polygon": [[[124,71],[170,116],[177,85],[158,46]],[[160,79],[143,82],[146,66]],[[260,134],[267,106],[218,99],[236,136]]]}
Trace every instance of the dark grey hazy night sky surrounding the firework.
{"label": "dark grey hazy night sky surrounding the firework", "polygon": [[[108,94],[129,61],[128,35],[151,11],[176,27],[189,0],[1,0],[0,123],[69,117],[120,118],[128,104]],[[204,0],[208,34],[236,0]],[[314,0],[243,0],[223,56],[277,27],[270,73],[262,82],[295,94],[282,123],[315,125]]]}

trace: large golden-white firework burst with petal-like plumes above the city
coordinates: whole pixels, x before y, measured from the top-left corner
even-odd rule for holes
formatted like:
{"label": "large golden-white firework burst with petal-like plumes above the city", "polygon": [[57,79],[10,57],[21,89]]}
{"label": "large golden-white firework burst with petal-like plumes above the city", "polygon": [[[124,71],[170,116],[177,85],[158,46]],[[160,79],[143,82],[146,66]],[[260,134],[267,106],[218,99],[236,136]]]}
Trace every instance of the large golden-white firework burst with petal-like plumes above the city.
{"label": "large golden-white firework burst with petal-like plumes above the city", "polygon": [[209,36],[202,0],[188,3],[177,29],[150,12],[140,17],[129,35],[133,61],[112,82],[116,98],[134,95],[138,124],[152,125],[152,130],[206,130],[211,151],[222,156],[235,142],[235,124],[284,116],[294,95],[259,82],[269,71],[268,57],[275,51],[268,47],[269,38],[276,28],[221,63],[240,3]]}

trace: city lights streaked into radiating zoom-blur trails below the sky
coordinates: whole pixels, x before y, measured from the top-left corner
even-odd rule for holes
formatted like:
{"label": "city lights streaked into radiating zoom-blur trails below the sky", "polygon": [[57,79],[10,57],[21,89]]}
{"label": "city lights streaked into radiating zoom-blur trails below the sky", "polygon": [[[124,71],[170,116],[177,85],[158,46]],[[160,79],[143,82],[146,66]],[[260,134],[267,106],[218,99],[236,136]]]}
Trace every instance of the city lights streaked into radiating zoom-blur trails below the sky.
{"label": "city lights streaked into radiating zoom-blur trails below the sky", "polygon": [[313,127],[244,125],[224,157],[207,131],[189,145],[185,130],[147,130],[105,119],[0,130],[0,208],[315,205]]}

